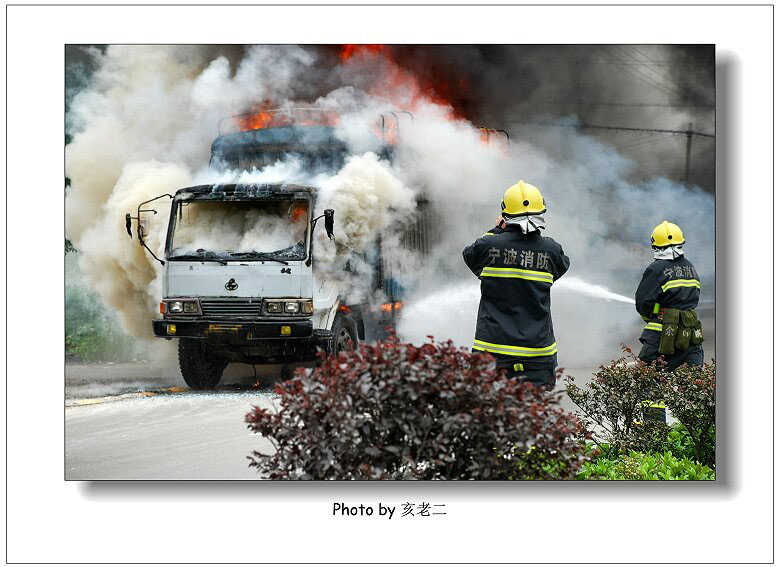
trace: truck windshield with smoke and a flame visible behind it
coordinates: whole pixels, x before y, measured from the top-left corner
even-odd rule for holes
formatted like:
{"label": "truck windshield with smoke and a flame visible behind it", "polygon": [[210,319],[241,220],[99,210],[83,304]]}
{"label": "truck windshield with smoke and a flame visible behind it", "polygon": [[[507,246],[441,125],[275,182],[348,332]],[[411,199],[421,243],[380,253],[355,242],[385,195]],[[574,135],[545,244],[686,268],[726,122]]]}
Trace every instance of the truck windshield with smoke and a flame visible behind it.
{"label": "truck windshield with smoke and a flame visible behind it", "polygon": [[302,260],[308,222],[301,199],[180,201],[168,258]]}

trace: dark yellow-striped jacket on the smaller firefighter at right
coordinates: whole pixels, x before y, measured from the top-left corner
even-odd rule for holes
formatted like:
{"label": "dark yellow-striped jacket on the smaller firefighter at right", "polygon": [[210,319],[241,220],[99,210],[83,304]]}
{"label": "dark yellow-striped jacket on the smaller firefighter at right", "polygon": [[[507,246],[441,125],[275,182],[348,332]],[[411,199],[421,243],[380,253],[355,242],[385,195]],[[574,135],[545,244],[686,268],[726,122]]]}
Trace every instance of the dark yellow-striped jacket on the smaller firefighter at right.
{"label": "dark yellow-striped jacket on the smaller firefighter at right", "polygon": [[655,345],[657,353],[661,310],[665,307],[681,311],[695,309],[699,305],[700,289],[699,274],[685,256],[674,260],[653,260],[636,290],[636,310],[647,322],[639,338],[642,344]]}

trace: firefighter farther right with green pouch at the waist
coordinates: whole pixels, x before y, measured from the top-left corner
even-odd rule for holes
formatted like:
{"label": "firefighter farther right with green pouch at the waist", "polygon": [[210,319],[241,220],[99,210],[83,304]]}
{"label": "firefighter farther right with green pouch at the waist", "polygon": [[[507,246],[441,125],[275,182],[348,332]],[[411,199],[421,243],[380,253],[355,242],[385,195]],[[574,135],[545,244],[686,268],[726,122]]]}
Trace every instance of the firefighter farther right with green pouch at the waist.
{"label": "firefighter farther right with green pouch at the waist", "polygon": [[[701,282],[683,253],[680,227],[663,221],[653,229],[653,262],[636,290],[636,310],[646,325],[639,341],[639,358],[653,362],[663,356],[667,371],[683,363],[704,364],[704,336],[696,315]],[[645,419],[666,421],[663,401],[644,400]]]}

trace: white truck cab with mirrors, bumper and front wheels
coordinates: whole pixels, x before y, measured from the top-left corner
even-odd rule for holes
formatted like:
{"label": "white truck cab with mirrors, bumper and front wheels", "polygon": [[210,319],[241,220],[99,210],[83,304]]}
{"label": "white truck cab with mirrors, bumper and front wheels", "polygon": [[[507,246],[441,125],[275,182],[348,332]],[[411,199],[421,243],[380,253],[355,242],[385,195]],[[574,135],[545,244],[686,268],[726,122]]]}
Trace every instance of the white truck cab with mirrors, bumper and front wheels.
{"label": "white truck cab with mirrors, bumper and front wheels", "polygon": [[[313,217],[317,190],[292,184],[201,185],[172,198],[154,334],[177,339],[188,386],[213,388],[229,362],[289,366],[352,349],[365,338],[363,307],[315,271],[319,220],[332,236],[334,211]],[[143,204],[141,205],[143,206]],[[144,210],[137,221],[146,247]],[[147,248],[148,250],[148,248]],[[149,250],[151,253],[151,250]],[[155,256],[156,258],[156,256]],[[341,309],[339,309],[341,307]]]}

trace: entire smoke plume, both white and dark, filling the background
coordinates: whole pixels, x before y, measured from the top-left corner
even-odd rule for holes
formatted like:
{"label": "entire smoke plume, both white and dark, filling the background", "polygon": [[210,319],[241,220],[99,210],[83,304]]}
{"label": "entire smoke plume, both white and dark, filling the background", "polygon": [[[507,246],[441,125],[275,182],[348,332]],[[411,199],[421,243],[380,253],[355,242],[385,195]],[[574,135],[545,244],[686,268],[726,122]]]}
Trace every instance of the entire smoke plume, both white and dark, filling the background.
{"label": "entire smoke plume, both white and dark, filling the background", "polygon": [[[542,189],[547,234],[572,258],[573,283],[554,288],[562,364],[601,361],[638,334],[632,306],[605,304],[592,286],[631,295],[652,259],[649,234],[661,220],[683,228],[703,293],[712,289],[709,142],[695,140],[692,179],[703,181],[689,188],[677,181],[679,167],[662,166],[671,165],[665,152],[673,145],[674,159],[682,155],[677,140],[684,136],[577,127],[684,129],[693,122],[711,132],[706,48],[392,46],[358,49],[347,59],[338,48],[316,46],[109,46],[81,53],[86,73],[73,82],[80,90],[68,93],[66,236],[81,252],[86,285],[136,336],[150,333],[160,271],[128,239],[123,215],[195,182],[322,187],[319,207],[337,210],[336,242],[319,235],[318,245],[336,271],[350,252],[412,221],[416,201],[425,203],[435,221],[432,253],[405,251],[400,241],[386,246],[393,277],[407,290],[400,331],[413,340],[433,334],[470,342],[478,282],[460,252],[492,226],[503,191],[518,179]],[[312,104],[342,114],[337,131],[352,157],[340,172],[309,172],[294,160],[260,171],[208,168],[221,118]],[[373,153],[370,135],[388,109],[414,114],[397,132],[393,163]],[[479,126],[507,130],[511,144],[495,134],[485,144]],[[165,208],[158,207],[150,230],[156,252]]]}

